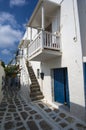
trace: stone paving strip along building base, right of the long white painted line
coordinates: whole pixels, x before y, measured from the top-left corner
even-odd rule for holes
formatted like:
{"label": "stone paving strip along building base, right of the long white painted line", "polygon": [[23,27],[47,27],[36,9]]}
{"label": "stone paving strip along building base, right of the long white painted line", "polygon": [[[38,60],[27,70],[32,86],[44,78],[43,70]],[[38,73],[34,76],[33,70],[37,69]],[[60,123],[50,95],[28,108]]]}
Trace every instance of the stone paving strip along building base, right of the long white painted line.
{"label": "stone paving strip along building base, right of the long white painted line", "polygon": [[68,114],[66,111],[56,109],[44,101],[36,102],[36,105],[61,130],[86,130],[84,122]]}

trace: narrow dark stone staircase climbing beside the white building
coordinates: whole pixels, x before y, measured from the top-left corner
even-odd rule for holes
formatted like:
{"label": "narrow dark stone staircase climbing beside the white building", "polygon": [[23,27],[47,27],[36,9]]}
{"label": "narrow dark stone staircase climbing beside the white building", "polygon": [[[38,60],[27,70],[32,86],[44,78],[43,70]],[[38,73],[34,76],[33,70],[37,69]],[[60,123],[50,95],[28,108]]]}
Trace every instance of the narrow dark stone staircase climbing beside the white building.
{"label": "narrow dark stone staircase climbing beside the white building", "polygon": [[32,69],[32,66],[28,67],[29,76],[31,79],[31,85],[30,85],[30,97],[32,101],[41,100],[44,98],[39,83],[36,79],[36,76],[34,74],[34,71]]}

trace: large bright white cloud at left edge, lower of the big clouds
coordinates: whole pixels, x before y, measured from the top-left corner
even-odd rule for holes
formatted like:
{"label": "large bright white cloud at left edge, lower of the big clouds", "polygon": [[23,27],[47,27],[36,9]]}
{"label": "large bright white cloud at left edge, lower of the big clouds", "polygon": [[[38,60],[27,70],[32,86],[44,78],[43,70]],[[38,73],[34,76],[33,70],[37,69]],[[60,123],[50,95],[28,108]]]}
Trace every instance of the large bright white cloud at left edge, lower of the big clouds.
{"label": "large bright white cloud at left edge, lower of the big clouds", "polygon": [[13,47],[22,38],[22,32],[10,25],[0,25],[0,48]]}

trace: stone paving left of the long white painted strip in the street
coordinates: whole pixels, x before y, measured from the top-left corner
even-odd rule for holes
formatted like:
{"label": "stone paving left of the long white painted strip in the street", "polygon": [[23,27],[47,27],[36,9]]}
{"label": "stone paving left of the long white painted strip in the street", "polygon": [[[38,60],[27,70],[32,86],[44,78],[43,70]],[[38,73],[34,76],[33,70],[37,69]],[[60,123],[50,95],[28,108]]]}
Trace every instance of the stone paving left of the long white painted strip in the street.
{"label": "stone paving left of the long white painted strip in the street", "polygon": [[0,104],[0,130],[59,130],[34,103],[24,98],[5,96]]}

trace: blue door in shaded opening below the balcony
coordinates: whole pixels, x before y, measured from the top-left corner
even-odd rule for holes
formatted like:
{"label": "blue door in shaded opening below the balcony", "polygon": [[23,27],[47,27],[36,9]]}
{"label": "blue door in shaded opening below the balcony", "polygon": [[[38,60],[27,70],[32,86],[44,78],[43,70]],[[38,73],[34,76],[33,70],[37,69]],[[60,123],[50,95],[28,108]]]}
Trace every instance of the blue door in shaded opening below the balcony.
{"label": "blue door in shaded opening below the balcony", "polygon": [[67,68],[54,69],[54,99],[62,104],[70,105]]}

